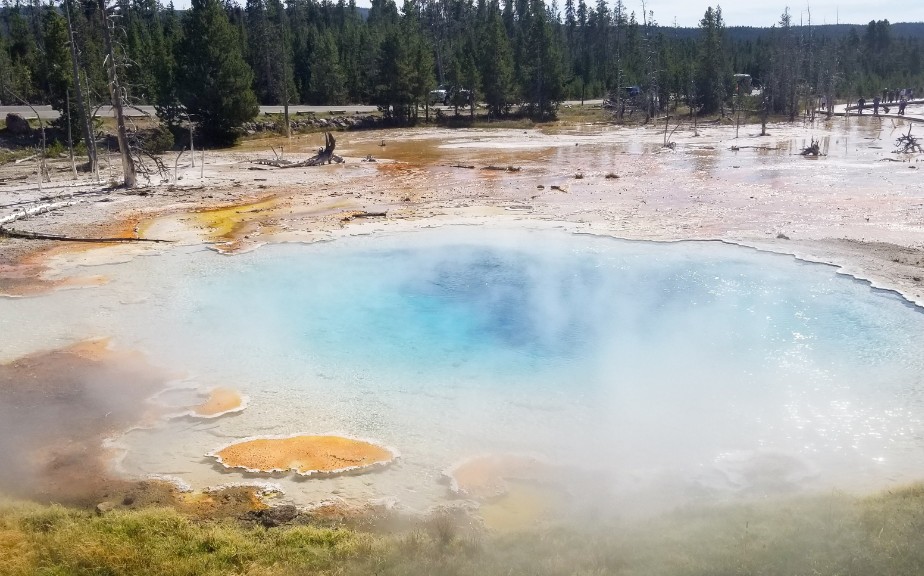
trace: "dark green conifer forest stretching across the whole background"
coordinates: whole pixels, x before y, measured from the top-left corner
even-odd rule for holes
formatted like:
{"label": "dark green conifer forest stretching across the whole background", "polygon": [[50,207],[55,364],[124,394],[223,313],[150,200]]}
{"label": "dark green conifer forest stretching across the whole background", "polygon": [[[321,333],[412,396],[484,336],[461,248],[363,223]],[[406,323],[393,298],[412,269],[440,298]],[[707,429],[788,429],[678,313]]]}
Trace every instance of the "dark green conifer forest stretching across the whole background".
{"label": "dark green conifer forest stretching across the whole background", "polygon": [[709,7],[691,34],[623,0],[373,0],[368,10],[354,0],[192,0],[182,11],[158,0],[4,0],[0,100],[49,103],[79,135],[78,99],[110,100],[111,57],[126,105],[153,104],[175,131],[193,123],[228,142],[258,102],[368,103],[413,123],[437,85],[464,94],[456,113],[480,102],[491,117],[548,118],[564,99],[604,96],[648,115],[677,105],[712,114],[740,96],[740,73],[762,88],[754,106],[794,118],[818,95],[924,84],[924,36],[885,20],[825,28],[796,25],[786,10],[733,39]]}

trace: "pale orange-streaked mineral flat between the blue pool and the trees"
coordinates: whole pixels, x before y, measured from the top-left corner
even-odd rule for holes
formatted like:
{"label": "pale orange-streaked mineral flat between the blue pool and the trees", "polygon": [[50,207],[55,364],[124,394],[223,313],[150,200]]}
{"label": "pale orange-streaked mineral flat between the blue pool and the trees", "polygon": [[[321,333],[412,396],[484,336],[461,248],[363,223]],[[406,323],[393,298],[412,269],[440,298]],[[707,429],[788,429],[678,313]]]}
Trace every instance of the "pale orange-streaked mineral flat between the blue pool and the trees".
{"label": "pale orange-streaked mineral flat between the blue pool and the trees", "polygon": [[[323,135],[268,137],[195,158],[167,154],[166,170],[142,175],[131,190],[118,186],[114,154],[103,157],[98,181],[75,177],[65,158],[50,162],[48,178],[35,159],[11,161],[0,166],[0,223],[44,235],[205,242],[226,252],[448,223],[717,240],[835,264],[924,305],[924,156],[893,152],[907,122],[835,118],[773,125],[763,137],[759,126],[727,124],[342,132],[344,163],[294,168],[260,161],[308,158]],[[813,141],[822,155],[801,156]],[[66,286],[54,256],[79,263],[99,246],[0,237],[0,293]],[[2,368],[10,378],[39,370],[40,357],[30,358]],[[82,398],[81,390],[74,393]],[[87,430],[72,444],[98,446],[111,432]],[[71,446],[68,458],[79,453]],[[96,485],[75,499],[98,494]]]}

